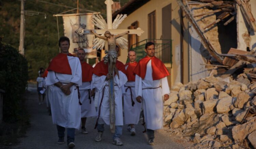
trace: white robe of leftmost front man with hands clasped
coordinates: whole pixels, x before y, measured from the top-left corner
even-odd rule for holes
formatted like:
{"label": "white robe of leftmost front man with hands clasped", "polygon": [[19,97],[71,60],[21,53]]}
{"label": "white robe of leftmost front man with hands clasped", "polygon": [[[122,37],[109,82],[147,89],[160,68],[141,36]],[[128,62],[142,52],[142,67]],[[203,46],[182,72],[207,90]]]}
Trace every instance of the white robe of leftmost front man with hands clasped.
{"label": "white robe of leftmost front man with hands clasped", "polygon": [[[78,92],[76,86],[82,85],[82,69],[80,60],[77,57],[68,56],[72,75],[55,73],[49,71],[46,85],[51,87],[49,96],[53,123],[65,128],[80,128],[81,109],[79,105]],[[60,88],[54,84],[60,82],[63,85],[74,83],[70,88],[71,94],[65,95]]]}

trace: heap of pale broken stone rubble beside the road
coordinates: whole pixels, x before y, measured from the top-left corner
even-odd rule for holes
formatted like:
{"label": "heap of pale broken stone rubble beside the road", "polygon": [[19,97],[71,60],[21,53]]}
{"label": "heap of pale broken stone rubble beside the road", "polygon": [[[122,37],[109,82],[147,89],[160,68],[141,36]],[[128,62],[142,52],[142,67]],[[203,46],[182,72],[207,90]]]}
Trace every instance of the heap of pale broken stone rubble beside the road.
{"label": "heap of pale broken stone rubble beside the road", "polygon": [[176,83],[164,102],[170,132],[189,138],[195,148],[256,148],[256,83],[210,76]]}

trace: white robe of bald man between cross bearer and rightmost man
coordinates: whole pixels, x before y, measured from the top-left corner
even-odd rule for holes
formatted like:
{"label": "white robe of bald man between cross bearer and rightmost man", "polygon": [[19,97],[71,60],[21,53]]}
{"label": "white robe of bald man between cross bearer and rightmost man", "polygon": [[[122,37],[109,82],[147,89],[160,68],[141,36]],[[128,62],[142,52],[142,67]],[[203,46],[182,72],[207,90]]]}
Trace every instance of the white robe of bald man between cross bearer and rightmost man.
{"label": "white robe of bald man between cross bearer and rightmost man", "polygon": [[[127,66],[126,66],[127,69]],[[131,87],[131,90],[128,88]],[[128,89],[127,89],[128,88]],[[138,124],[140,120],[141,103],[137,102],[135,94],[135,82],[128,81],[124,86],[124,123],[125,124]],[[132,100],[131,102],[131,92]]]}

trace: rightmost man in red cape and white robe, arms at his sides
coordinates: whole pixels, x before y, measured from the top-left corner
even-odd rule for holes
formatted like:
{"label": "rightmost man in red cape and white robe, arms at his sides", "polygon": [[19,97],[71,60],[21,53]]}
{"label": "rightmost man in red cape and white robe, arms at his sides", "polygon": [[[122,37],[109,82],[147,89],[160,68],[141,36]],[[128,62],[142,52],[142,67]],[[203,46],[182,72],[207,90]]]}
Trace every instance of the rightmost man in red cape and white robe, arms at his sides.
{"label": "rightmost man in red cape and white robe, arms at his sides", "polygon": [[154,145],[154,130],[163,126],[163,101],[169,99],[167,76],[170,75],[161,60],[155,57],[155,44],[147,42],[145,45],[147,56],[142,58],[134,73],[136,100],[142,102],[144,118],[147,128],[148,144]]}

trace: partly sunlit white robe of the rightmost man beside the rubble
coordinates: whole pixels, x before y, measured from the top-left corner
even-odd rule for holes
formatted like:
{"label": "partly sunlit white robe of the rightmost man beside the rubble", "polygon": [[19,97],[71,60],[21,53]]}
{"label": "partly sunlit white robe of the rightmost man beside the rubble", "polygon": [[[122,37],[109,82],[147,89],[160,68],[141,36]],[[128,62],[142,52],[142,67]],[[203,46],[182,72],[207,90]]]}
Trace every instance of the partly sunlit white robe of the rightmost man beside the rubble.
{"label": "partly sunlit white robe of the rightmost man beside the rubble", "polygon": [[[161,86],[161,87],[160,87]],[[159,87],[159,88],[157,88]],[[156,89],[144,89],[156,88]],[[143,90],[142,90],[143,89]],[[162,96],[169,94],[167,77],[153,80],[151,60],[147,63],[145,78],[136,75],[135,78],[136,97],[142,97],[144,118],[147,129],[158,130],[163,126],[163,100]]]}

